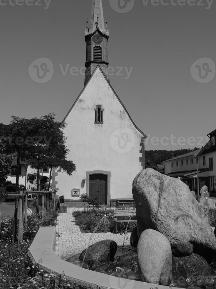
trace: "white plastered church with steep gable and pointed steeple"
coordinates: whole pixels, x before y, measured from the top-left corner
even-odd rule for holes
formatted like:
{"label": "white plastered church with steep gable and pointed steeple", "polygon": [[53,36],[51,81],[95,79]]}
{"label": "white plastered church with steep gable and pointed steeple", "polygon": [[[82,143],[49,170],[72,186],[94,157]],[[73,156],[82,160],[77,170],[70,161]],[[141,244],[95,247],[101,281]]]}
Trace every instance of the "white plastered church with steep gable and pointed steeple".
{"label": "white plastered church with steep gable and pointed steeple", "polygon": [[72,206],[83,193],[108,206],[133,198],[133,179],[145,168],[146,136],[110,85],[108,39],[102,0],[93,0],[85,30],[84,88],[64,118],[68,160],[76,164],[76,172],[68,176],[53,170],[52,188]]}

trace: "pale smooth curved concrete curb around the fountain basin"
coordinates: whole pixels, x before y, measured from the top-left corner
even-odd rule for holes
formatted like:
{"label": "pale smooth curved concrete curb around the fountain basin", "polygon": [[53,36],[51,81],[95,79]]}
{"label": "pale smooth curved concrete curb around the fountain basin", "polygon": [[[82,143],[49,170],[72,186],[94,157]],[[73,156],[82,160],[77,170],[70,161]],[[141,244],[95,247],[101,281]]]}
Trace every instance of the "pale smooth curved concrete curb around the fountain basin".
{"label": "pale smooth curved concrete curb around the fountain basin", "polygon": [[[56,283],[60,282],[63,275],[66,283],[73,289],[92,288],[92,289],[169,289],[168,286],[145,283],[106,275],[103,273],[87,270],[61,260],[53,251],[56,244],[56,227],[41,227],[29,248],[29,256],[39,268],[46,272],[53,273],[56,277]],[[122,286],[123,285],[123,286]],[[62,287],[61,287],[62,288]],[[182,289],[173,287],[173,289]]]}

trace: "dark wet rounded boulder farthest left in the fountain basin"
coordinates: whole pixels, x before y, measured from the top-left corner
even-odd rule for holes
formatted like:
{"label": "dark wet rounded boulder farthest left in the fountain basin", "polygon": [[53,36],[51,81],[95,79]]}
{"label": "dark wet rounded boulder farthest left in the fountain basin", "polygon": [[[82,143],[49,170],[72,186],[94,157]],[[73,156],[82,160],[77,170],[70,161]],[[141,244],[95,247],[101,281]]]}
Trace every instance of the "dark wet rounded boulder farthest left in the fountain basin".
{"label": "dark wet rounded boulder farthest left in the fountain basin", "polygon": [[83,260],[87,250],[84,260],[85,262],[87,262],[88,260],[94,260],[97,262],[112,261],[115,256],[117,247],[118,245],[115,241],[103,240],[84,249],[79,256],[79,259],[81,261]]}

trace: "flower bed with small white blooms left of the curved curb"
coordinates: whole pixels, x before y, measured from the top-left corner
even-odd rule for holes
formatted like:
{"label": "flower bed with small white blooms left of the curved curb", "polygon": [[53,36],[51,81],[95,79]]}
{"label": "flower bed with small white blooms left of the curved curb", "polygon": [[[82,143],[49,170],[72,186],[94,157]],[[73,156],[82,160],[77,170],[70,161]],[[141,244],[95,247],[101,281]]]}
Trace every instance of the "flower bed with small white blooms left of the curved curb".
{"label": "flower bed with small white blooms left of the curved curb", "polygon": [[[23,242],[18,246],[11,244],[13,235],[13,218],[2,218],[0,232],[0,288],[21,289],[21,288],[54,288],[52,276],[45,276],[44,272],[38,271],[28,256],[34,237],[41,226],[55,226],[57,211],[48,209],[43,222],[38,216],[36,226],[36,215],[27,216],[27,225],[24,226]],[[17,236],[16,236],[17,237]],[[38,273],[38,274],[36,274]]]}

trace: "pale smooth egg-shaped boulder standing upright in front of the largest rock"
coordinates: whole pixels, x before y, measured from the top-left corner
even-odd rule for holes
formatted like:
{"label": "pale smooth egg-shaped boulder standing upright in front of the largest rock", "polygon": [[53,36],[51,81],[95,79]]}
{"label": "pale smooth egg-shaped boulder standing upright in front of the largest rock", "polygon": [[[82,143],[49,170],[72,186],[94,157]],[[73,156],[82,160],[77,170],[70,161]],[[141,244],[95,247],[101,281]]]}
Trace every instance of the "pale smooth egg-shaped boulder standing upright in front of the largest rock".
{"label": "pale smooth egg-shaped boulder standing upright in front of the largest rock", "polygon": [[172,281],[172,250],[161,233],[147,229],[137,245],[138,264],[145,282],[168,286]]}

